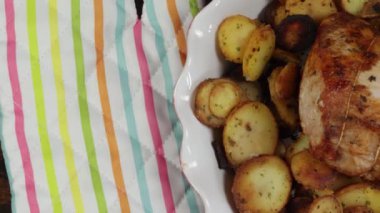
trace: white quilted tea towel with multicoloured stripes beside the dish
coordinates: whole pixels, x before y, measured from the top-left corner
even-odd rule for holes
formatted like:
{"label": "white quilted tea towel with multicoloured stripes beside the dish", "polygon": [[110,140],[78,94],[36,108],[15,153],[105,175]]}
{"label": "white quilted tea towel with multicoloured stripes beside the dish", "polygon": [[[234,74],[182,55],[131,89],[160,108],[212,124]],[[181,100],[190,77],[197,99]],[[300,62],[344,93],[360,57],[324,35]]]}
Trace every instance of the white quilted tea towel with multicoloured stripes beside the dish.
{"label": "white quilted tea towel with multicoloured stripes beside the dish", "polygon": [[173,87],[201,0],[0,0],[14,212],[202,212]]}

